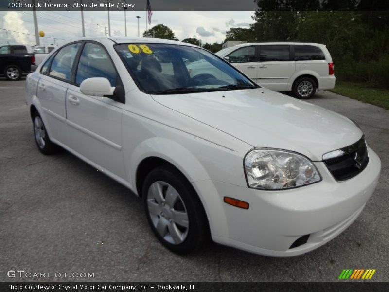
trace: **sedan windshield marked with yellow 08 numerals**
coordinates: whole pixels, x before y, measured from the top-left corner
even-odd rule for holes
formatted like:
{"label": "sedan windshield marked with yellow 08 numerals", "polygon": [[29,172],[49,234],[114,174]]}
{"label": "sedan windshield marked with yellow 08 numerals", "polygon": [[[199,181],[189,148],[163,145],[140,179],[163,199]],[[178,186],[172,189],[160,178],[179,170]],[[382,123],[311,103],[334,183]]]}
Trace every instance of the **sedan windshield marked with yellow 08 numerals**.
{"label": "sedan windshield marked with yellow 08 numerals", "polygon": [[139,88],[149,94],[258,88],[210,52],[182,45],[132,43],[115,46]]}

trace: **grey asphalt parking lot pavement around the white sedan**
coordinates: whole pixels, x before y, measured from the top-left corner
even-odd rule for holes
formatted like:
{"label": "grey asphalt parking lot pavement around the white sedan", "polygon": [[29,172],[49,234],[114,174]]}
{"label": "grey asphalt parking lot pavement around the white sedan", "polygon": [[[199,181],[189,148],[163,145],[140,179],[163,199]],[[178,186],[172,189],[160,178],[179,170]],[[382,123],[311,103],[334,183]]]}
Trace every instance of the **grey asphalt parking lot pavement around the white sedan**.
{"label": "grey asphalt parking lot pavement around the white sedan", "polygon": [[376,192],[340,236],[292,258],[217,244],[177,256],[159,244],[141,199],[124,186],[66,151],[38,152],[24,84],[0,79],[0,281],[26,280],[7,277],[17,269],[94,273],[57,280],[336,281],[349,268],[376,269],[372,280],[389,281],[388,110],[326,91],[309,100],[358,122],[382,161]]}

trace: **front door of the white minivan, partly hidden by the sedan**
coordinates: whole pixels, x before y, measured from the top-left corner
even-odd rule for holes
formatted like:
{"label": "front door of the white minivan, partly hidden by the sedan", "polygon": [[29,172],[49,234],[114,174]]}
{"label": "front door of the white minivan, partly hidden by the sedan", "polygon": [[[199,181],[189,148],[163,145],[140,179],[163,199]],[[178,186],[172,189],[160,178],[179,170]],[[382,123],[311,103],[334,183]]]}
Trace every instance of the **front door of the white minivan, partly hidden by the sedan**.
{"label": "front door of the white minivan, partly hidden by the sedan", "polygon": [[239,69],[255,82],[257,82],[258,70],[256,47],[257,46],[255,45],[241,47],[227,55],[230,58],[230,63],[234,67]]}

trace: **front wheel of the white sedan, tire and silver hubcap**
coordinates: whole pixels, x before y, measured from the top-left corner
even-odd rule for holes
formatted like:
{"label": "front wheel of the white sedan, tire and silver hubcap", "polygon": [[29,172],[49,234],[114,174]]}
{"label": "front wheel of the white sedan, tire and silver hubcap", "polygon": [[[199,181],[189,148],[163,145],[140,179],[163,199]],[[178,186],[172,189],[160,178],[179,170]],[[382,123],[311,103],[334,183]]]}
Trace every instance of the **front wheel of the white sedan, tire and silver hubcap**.
{"label": "front wheel of the white sedan, tire and silver hubcap", "polygon": [[142,197],[150,227],[165,247],[185,255],[208,242],[203,205],[192,185],[174,167],[152,170],[143,183]]}

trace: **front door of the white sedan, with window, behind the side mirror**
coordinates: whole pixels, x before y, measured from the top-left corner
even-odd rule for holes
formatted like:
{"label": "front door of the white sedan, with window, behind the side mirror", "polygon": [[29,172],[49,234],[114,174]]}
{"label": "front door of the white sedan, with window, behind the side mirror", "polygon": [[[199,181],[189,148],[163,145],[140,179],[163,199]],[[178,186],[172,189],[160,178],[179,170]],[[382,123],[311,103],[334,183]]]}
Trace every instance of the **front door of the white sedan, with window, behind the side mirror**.
{"label": "front door of the white sedan, with window, behind the side mirror", "polygon": [[85,95],[80,84],[87,78],[105,77],[111,87],[119,75],[105,48],[86,42],[66,94],[67,145],[110,173],[125,178],[122,154],[123,104],[108,97]]}

